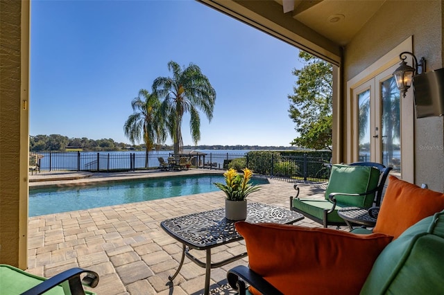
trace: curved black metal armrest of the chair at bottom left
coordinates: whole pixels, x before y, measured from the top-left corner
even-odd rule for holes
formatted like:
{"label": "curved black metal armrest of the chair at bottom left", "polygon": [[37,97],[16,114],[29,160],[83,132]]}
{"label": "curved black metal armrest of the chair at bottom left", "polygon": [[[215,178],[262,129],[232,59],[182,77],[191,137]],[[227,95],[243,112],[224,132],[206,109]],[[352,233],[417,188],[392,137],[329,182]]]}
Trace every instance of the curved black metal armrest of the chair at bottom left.
{"label": "curved black metal armrest of the chair at bottom left", "polygon": [[[86,273],[86,276],[80,280],[80,274]],[[71,291],[71,295],[85,295],[85,290],[83,289],[83,285],[87,287],[96,287],[99,283],[99,275],[94,271],[89,271],[86,269],[80,269],[78,267],[74,267],[72,269],[68,269],[66,271],[53,276],[47,280],[44,280],[39,285],[28,289],[28,291],[22,293],[22,295],[37,295],[42,294],[49,289],[60,285],[61,283],[68,281],[69,289]]]}

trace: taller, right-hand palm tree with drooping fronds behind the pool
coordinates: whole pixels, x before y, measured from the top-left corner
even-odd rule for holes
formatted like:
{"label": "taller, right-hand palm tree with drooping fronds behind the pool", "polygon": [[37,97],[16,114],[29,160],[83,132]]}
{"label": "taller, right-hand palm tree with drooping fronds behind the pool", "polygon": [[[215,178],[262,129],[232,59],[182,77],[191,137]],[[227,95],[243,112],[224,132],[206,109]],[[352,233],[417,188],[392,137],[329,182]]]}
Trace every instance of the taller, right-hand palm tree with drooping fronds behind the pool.
{"label": "taller, right-hand palm tree with drooping fronds behind the pool", "polygon": [[181,69],[176,62],[171,61],[168,63],[168,69],[173,72],[173,77],[156,78],[153,82],[153,93],[162,100],[160,110],[173,139],[174,154],[177,157],[183,146],[180,129],[183,115],[189,112],[191,116],[189,127],[196,145],[200,140],[199,110],[203,111],[211,122],[216,91],[196,64],[191,63],[187,68]]}

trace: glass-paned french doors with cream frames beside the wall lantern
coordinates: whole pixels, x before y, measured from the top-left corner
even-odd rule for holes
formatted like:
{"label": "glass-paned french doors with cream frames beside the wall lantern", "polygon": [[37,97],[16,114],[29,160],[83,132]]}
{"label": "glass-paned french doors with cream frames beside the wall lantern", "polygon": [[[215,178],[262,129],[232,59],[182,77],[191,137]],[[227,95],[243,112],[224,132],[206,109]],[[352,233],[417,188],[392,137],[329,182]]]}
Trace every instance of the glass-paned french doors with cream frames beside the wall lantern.
{"label": "glass-paned french doors with cream frames beside the wall lantern", "polygon": [[401,101],[393,71],[386,69],[352,90],[355,113],[355,158],[401,172]]}

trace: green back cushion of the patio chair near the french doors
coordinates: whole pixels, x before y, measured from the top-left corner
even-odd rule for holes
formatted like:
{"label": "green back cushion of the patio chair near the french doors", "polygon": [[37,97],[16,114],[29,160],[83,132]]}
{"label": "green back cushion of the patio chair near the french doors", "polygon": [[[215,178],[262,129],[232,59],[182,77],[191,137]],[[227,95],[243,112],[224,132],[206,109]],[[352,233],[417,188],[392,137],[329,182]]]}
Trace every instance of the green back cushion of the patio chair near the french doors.
{"label": "green back cushion of the patio chair near the french doors", "polygon": [[[348,166],[335,164],[325,190],[325,199],[330,193],[366,193],[377,188],[379,170],[368,166]],[[373,205],[375,193],[359,197],[336,195],[336,201],[341,204],[370,208]]]}

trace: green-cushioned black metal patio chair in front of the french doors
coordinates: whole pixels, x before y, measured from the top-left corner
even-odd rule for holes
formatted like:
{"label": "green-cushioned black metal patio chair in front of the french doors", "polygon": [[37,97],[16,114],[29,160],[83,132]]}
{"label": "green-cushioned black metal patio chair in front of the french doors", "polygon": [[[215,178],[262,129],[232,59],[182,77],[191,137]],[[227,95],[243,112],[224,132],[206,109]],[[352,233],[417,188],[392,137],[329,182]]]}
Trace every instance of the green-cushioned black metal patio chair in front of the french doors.
{"label": "green-cushioned black metal patio chair in front of the french doors", "polygon": [[382,190],[391,167],[380,163],[356,162],[349,165],[335,164],[323,199],[300,199],[300,184],[295,184],[296,197],[290,197],[290,208],[311,220],[329,225],[346,225],[339,217],[339,208],[379,206]]}

